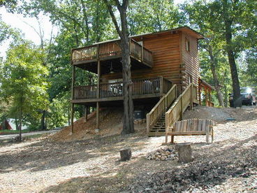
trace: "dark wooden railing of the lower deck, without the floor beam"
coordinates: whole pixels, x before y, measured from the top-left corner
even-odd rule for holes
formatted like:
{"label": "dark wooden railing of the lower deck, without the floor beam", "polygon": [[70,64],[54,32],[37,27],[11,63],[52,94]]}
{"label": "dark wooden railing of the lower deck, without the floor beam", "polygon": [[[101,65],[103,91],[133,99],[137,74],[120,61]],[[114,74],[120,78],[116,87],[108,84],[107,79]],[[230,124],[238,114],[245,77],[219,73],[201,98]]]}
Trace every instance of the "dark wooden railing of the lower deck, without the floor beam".
{"label": "dark wooden railing of the lower deck, without the floor beam", "polygon": [[[163,94],[170,90],[172,83],[163,77],[132,80],[132,94]],[[123,96],[122,82],[101,83],[99,98]],[[97,85],[75,86],[73,99],[97,99]]]}

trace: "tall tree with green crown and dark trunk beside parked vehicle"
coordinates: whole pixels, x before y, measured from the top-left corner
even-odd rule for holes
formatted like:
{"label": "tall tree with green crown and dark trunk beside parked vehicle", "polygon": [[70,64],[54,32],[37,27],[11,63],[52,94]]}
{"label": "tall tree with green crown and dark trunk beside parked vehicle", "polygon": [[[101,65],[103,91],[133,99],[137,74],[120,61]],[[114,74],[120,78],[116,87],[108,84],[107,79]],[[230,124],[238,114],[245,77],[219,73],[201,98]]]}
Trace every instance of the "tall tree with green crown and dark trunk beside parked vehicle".
{"label": "tall tree with green crown and dark trunk beside parked vehicle", "polygon": [[[251,5],[251,6],[249,6]],[[228,57],[230,74],[233,83],[235,107],[242,106],[240,99],[240,82],[238,79],[237,65],[235,59],[244,50],[246,29],[245,23],[249,18],[254,19],[254,7],[256,1],[249,0],[213,0],[194,1],[194,10],[191,17],[198,20],[200,29],[208,29],[224,41],[223,50]],[[201,22],[200,22],[201,21]]]}

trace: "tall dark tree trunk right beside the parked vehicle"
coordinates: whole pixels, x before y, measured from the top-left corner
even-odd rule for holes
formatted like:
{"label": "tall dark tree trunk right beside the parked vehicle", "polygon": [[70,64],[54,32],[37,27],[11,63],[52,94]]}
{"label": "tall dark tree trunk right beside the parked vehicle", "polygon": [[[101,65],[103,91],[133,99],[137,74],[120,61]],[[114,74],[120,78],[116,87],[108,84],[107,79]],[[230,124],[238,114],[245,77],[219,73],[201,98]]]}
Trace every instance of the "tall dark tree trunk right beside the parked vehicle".
{"label": "tall dark tree trunk right beside the parked vehicle", "polygon": [[239,85],[238,74],[237,74],[237,66],[235,64],[235,54],[233,52],[233,45],[232,45],[231,25],[233,23],[233,20],[230,18],[230,15],[228,14],[227,9],[228,9],[228,1],[223,0],[223,17],[224,17],[224,23],[225,23],[226,52],[228,55],[228,62],[229,62],[231,78],[232,78],[234,107],[241,107],[242,99],[240,96],[240,85]]}

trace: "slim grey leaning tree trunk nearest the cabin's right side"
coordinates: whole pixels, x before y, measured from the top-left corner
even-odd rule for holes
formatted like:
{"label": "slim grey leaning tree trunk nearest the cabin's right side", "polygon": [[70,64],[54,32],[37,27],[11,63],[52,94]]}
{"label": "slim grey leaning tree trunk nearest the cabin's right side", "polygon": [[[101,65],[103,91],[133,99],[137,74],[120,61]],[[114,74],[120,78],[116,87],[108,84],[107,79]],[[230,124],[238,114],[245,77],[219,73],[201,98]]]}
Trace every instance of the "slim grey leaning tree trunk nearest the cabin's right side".
{"label": "slim grey leaning tree trunk nearest the cabin's right side", "polygon": [[216,59],[214,58],[214,55],[213,55],[213,51],[212,51],[212,45],[208,45],[208,52],[209,52],[209,55],[210,55],[210,65],[211,65],[211,71],[212,71],[212,77],[213,77],[213,80],[214,80],[214,87],[215,87],[215,90],[216,90],[216,95],[217,95],[217,98],[218,98],[218,101],[219,101],[219,106],[222,106],[224,107],[224,101],[223,101],[223,94],[221,93],[221,87],[220,87],[220,84],[219,84],[219,79],[218,79],[218,76],[216,74]]}

